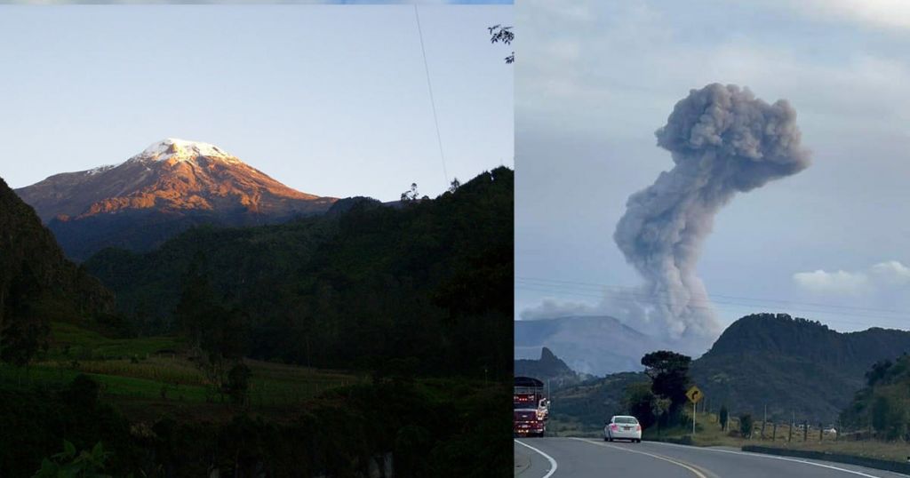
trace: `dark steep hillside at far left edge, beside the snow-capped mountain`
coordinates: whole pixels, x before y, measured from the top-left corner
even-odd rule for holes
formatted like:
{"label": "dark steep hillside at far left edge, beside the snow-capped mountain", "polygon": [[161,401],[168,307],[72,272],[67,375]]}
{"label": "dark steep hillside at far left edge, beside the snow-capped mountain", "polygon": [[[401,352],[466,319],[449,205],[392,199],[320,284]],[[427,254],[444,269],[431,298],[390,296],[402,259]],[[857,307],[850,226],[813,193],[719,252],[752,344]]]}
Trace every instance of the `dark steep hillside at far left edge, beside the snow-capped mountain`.
{"label": "dark steep hillside at far left edge, beside the snow-capped mountain", "polygon": [[113,305],[113,294],[64,257],[35,210],[0,179],[0,343],[41,341],[48,320],[80,320]]}

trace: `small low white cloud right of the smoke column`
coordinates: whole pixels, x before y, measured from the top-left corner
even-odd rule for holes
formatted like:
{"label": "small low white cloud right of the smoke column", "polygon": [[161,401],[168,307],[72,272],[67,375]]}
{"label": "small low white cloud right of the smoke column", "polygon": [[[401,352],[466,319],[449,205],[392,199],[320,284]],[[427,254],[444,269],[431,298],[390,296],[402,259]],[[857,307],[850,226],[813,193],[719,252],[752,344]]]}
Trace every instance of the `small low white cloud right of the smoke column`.
{"label": "small low white cloud right of the smoke column", "polygon": [[868,270],[847,272],[837,270],[826,272],[796,272],[793,276],[796,285],[818,293],[830,294],[864,294],[873,290],[910,285],[910,268],[897,260],[879,262]]}

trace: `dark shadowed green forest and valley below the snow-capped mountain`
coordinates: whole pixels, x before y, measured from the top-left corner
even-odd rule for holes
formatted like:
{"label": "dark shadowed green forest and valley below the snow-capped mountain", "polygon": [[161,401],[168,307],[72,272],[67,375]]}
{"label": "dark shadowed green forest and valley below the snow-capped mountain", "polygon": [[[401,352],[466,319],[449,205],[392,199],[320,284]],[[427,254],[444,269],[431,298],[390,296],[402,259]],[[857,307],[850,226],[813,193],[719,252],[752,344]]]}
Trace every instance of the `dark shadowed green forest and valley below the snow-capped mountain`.
{"label": "dark shadowed green forest and valley below the snow-capped mountain", "polygon": [[[0,255],[14,259],[0,278],[0,423],[15,430],[0,433],[0,469],[508,473],[512,184],[498,168],[432,200],[193,229],[85,268],[23,212],[0,238],[9,250],[50,241]],[[42,254],[78,287],[37,273]]]}

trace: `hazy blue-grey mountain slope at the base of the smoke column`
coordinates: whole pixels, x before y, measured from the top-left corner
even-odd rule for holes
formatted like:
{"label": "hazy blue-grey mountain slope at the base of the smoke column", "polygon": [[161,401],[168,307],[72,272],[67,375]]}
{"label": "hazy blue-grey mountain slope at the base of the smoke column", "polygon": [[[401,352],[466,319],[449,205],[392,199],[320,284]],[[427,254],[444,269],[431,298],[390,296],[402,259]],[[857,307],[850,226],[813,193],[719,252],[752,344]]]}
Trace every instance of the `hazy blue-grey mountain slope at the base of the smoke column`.
{"label": "hazy blue-grey mountain slope at the base of the smoke column", "polygon": [[666,348],[610,316],[516,320],[515,358],[536,357],[546,347],[573,371],[606,375],[642,370],[642,355]]}

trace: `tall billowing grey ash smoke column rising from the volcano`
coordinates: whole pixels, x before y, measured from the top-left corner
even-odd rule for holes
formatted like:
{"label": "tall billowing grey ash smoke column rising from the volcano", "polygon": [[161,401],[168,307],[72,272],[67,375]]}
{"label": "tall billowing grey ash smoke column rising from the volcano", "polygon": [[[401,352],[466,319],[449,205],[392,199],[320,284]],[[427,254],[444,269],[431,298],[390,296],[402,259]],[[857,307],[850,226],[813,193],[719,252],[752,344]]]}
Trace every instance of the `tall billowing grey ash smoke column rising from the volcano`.
{"label": "tall billowing grey ash smoke column rising from the volcano", "polygon": [[713,339],[719,326],[695,265],[714,215],[736,193],[802,171],[809,153],[789,103],[734,85],[691,90],[655,134],[675,166],[629,197],[613,234],[645,280],[629,313],[671,339]]}

